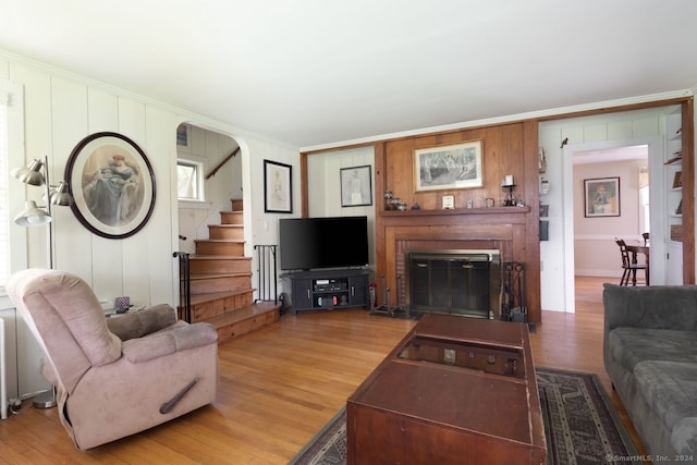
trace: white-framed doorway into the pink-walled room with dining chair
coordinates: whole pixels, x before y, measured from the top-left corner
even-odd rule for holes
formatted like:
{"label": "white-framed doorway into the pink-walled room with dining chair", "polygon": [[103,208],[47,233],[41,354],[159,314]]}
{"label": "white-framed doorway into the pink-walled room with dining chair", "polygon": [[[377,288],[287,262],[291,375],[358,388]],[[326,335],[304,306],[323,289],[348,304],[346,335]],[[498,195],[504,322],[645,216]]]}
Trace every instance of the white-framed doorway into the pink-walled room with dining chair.
{"label": "white-framed doorway into the pink-walled room with dining chair", "polygon": [[[563,196],[564,204],[573,206],[564,215],[565,304],[567,311],[575,310],[575,277],[614,277],[620,273],[620,256],[615,236],[641,240],[643,232],[651,232],[651,280],[662,283],[664,255],[662,248],[665,213],[663,140],[661,137],[631,140],[607,140],[564,147]],[[584,182],[594,179],[619,178],[617,216],[587,216]],[[640,196],[641,183],[648,181],[648,206]],[[651,208],[653,206],[653,208]],[[646,218],[648,216],[648,218]],[[648,231],[645,224],[648,223]],[[656,257],[656,258],[655,258]],[[589,265],[590,264],[590,265]],[[656,277],[656,278],[653,278]],[[619,274],[617,274],[619,282]]]}

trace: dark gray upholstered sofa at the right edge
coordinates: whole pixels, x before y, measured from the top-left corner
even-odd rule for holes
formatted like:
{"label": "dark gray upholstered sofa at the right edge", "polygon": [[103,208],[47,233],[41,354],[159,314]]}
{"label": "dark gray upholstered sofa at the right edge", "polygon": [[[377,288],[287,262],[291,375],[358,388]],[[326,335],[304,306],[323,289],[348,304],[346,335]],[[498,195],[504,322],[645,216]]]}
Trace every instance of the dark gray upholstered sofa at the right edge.
{"label": "dark gray upholstered sofa at the right edge", "polygon": [[604,284],[604,366],[647,452],[697,462],[697,286]]}

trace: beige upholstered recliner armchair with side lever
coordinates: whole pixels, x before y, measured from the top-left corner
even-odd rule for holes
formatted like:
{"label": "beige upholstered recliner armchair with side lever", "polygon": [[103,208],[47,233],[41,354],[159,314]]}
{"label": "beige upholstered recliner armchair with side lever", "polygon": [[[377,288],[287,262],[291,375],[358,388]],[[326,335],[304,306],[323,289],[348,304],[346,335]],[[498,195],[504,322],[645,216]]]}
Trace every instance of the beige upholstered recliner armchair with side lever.
{"label": "beige upholstered recliner armchair with side lever", "polygon": [[29,269],[8,293],[42,345],[44,376],[78,449],[110,442],[209,404],[218,384],[218,334],[178,321],[168,305],[105,317],[81,278]]}

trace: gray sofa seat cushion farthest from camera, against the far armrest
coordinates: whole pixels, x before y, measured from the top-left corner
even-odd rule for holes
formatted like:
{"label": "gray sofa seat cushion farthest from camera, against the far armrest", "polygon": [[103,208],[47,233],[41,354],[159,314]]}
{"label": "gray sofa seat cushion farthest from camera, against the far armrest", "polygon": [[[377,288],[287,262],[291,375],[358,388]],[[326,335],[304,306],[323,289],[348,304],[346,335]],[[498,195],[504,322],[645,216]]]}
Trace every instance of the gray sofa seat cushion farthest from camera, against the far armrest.
{"label": "gray sofa seat cushion farthest from camera, against the far armrest", "polygon": [[627,371],[643,360],[697,364],[697,332],[649,328],[615,328],[608,335],[610,355]]}

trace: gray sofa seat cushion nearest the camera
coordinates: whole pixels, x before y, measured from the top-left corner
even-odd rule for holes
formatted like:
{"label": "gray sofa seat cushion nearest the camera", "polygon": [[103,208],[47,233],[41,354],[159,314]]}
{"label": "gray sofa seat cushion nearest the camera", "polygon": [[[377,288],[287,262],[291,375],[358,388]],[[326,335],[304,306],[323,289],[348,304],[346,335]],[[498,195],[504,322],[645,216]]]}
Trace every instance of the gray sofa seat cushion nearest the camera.
{"label": "gray sofa seat cushion nearest the camera", "polygon": [[697,364],[646,360],[634,367],[638,393],[651,405],[677,453],[697,451]]}

